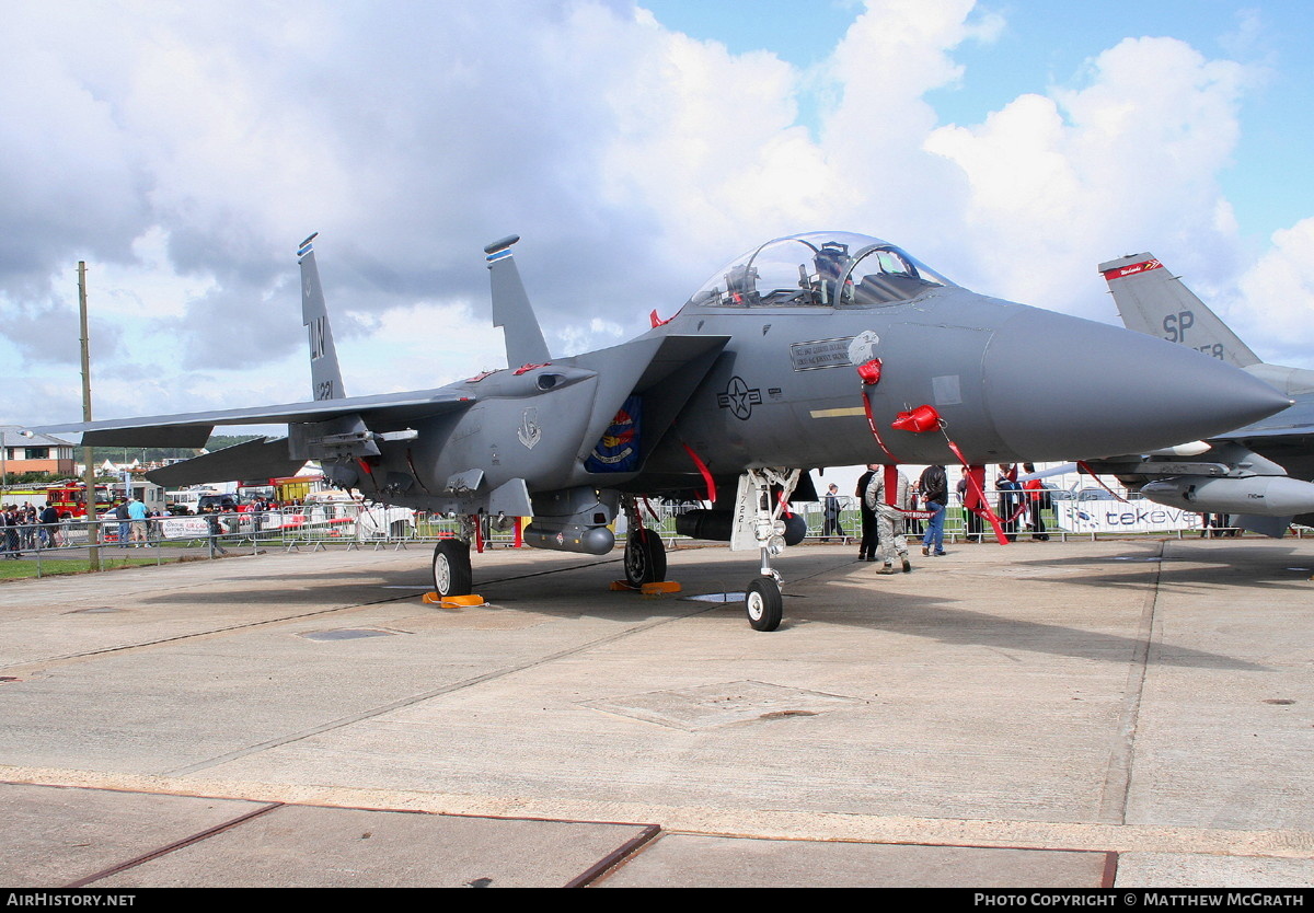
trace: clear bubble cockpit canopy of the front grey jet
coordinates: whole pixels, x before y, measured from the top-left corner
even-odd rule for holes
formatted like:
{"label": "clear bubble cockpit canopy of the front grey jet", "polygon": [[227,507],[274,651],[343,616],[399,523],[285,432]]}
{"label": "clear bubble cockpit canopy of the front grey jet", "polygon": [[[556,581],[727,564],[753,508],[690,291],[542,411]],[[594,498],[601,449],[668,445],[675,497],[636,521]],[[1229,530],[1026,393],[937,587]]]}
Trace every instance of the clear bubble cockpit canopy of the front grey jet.
{"label": "clear bubble cockpit canopy of the front grey jet", "polygon": [[901,250],[866,235],[815,231],[769,240],[703,284],[691,305],[863,307],[953,286]]}

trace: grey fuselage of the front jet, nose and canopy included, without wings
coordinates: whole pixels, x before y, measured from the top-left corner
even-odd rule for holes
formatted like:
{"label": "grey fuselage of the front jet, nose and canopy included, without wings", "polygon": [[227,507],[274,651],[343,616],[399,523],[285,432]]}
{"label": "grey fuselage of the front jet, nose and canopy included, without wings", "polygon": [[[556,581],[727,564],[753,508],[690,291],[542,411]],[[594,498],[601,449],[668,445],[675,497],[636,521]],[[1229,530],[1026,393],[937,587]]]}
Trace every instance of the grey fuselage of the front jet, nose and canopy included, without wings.
{"label": "grey fuselage of the front jet, nose and canopy included, without wings", "polygon": [[[424,422],[414,443],[385,447],[374,478],[360,483],[432,507],[472,472],[484,491],[524,479],[531,493],[661,493],[699,483],[695,456],[717,478],[759,466],[953,462],[950,441],[972,464],[1085,458],[1205,437],[1284,402],[1198,352],[976,294],[884,242],[837,236],[845,243],[808,235],[758,248],[627,344],[639,357],[665,338],[724,339],[708,364],[681,369],[698,376],[669,427],[637,424],[633,470],[585,464],[599,409],[610,418],[616,407],[604,385],[614,369],[585,365],[624,365],[618,347],[452,385],[474,405]],[[821,263],[837,246],[853,256],[838,268]],[[763,254],[778,250],[802,263],[779,269]],[[791,269],[792,285],[781,278]],[[608,352],[620,355],[607,363]],[[872,360],[879,381],[865,384],[857,367]],[[687,381],[677,370],[662,384]],[[941,427],[891,427],[922,405]]]}

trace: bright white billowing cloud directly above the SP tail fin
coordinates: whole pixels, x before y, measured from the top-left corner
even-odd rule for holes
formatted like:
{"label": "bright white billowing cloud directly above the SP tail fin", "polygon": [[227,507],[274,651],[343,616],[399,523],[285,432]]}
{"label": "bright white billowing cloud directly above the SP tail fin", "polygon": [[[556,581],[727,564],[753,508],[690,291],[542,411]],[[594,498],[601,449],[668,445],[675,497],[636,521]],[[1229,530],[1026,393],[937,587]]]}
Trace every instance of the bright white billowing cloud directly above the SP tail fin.
{"label": "bright white billowing cloud directly above the SP tail fin", "polygon": [[1217,176],[1247,75],[1173,38],[1127,38],[1091,62],[1084,87],[932,131],[926,148],[971,188],[963,218],[978,281],[1095,315],[1079,289],[1099,260],[1142,246],[1168,257],[1188,235],[1197,256],[1235,248]]}

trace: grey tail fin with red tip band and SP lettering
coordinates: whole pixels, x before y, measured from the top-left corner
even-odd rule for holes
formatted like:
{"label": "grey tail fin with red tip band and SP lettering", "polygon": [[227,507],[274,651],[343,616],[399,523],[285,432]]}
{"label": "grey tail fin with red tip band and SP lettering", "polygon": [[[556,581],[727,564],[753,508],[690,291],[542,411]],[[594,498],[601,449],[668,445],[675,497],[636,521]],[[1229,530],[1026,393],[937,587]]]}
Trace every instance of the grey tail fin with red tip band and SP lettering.
{"label": "grey tail fin with red tip band and SP lettering", "polygon": [[1259,364],[1259,356],[1152,255],[1109,260],[1100,272],[1127,330],[1189,345],[1236,368]]}

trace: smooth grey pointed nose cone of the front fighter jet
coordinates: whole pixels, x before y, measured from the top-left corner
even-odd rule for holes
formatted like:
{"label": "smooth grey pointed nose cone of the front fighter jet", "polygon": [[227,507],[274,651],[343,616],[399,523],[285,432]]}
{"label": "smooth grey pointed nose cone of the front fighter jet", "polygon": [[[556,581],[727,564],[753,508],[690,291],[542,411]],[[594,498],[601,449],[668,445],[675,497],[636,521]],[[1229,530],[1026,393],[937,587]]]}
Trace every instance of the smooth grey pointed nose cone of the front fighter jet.
{"label": "smooth grey pointed nose cone of the front fighter jet", "polygon": [[1185,345],[1028,307],[983,361],[1000,437],[1034,460],[1141,453],[1233,431],[1290,405]]}

